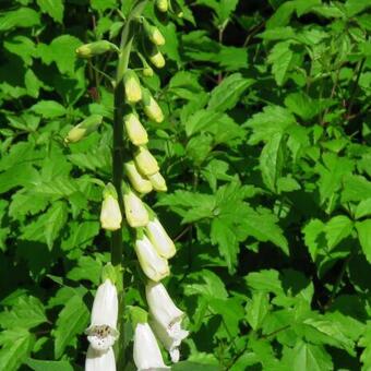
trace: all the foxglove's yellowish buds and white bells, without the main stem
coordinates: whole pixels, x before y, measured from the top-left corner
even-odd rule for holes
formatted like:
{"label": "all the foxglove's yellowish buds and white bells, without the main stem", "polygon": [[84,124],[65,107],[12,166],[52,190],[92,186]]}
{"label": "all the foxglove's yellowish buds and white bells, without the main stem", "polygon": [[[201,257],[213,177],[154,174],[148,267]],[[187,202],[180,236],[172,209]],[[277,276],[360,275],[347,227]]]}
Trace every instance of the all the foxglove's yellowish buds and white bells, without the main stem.
{"label": "all the foxglove's yellowish buds and white bells, without the main stem", "polygon": [[[168,0],[155,1],[159,13],[165,13],[168,9],[172,11],[171,4]],[[165,44],[165,38],[144,16],[134,19],[134,22],[136,32],[143,36],[142,43],[135,45],[135,52],[143,65],[143,76],[151,76],[154,74],[151,64],[157,69],[165,65],[164,56],[158,48]],[[121,56],[120,50],[106,40],[86,44],[76,49],[76,53],[85,59],[107,51],[118,51]],[[136,309],[140,315],[134,315],[135,320],[132,321],[133,358],[139,370],[152,370],[168,368],[164,363],[157,339],[169,351],[171,361],[177,362],[180,358],[180,344],[188,332],[181,327],[184,313],[176,307],[160,283],[170,274],[168,260],[176,254],[176,246],[156,214],[143,202],[143,198],[152,191],[166,192],[167,184],[155,156],[147,147],[148,133],[141,113],[156,123],[163,122],[164,113],[149,89],[142,86],[135,70],[127,68],[122,74],[122,85],[121,81],[119,84],[123,86],[124,95],[122,121],[127,140],[125,158],[130,152],[132,156],[123,164],[124,179],[121,188],[108,183],[103,191],[100,225],[106,230],[115,231],[122,227],[124,220],[133,228],[134,250],[147,277],[145,294],[148,304],[148,315],[144,310]],[[65,143],[77,142],[96,130],[101,117],[94,116],[87,121],[73,128],[67,135]],[[118,312],[115,279],[106,278],[96,292],[92,323],[86,330],[89,346],[85,370],[116,370],[112,346],[119,337]]]}

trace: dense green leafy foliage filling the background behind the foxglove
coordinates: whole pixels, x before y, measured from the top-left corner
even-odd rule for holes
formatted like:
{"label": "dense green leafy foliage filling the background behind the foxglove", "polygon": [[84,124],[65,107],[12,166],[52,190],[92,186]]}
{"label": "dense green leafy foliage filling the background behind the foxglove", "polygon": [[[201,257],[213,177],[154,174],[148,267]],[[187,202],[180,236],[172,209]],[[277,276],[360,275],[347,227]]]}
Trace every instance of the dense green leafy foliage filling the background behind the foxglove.
{"label": "dense green leafy foliage filling the background behind the foxglove", "polygon": [[[1,1],[1,370],[84,362],[109,260],[112,88],[96,69],[115,60],[74,50],[117,39],[119,2]],[[167,287],[191,331],[173,369],[371,370],[370,1],[181,7],[156,21],[167,67],[142,80],[166,112],[146,125],[169,192],[148,202],[177,240]],[[88,113],[101,132],[65,147]],[[143,304],[129,234],[125,261]]]}

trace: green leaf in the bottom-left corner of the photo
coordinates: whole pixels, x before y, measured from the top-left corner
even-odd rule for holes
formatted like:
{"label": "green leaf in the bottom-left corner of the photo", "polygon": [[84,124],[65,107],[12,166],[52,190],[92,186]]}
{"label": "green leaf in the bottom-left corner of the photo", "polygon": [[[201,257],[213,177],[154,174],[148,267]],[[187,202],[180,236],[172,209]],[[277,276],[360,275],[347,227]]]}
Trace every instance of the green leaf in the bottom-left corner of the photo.
{"label": "green leaf in the bottom-left corner of the photo", "polygon": [[29,356],[35,335],[24,328],[5,330],[0,333],[0,370],[17,370]]}

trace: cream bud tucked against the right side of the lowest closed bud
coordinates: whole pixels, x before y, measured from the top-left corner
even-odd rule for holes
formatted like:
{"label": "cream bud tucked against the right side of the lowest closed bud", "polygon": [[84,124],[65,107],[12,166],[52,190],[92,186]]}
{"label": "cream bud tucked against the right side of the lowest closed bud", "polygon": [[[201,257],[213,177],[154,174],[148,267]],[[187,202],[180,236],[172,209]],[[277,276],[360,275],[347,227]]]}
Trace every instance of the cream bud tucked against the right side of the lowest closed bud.
{"label": "cream bud tucked against the right side of the lowest closed bud", "polygon": [[145,232],[158,254],[163,258],[170,259],[176,254],[176,246],[157,218],[148,222]]}

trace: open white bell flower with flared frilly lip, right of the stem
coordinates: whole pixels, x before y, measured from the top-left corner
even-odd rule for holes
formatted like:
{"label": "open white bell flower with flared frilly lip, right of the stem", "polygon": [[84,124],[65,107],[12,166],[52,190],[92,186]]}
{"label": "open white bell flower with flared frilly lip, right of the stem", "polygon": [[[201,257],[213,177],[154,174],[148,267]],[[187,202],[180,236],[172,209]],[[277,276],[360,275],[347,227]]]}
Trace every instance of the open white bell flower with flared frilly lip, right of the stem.
{"label": "open white bell flower with flared frilly lip, right of the stem", "polygon": [[179,346],[189,332],[181,328],[184,313],[175,306],[166,288],[160,283],[149,282],[145,287],[152,326],[169,351],[172,362],[180,358]]}

